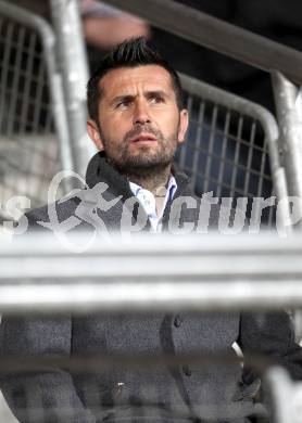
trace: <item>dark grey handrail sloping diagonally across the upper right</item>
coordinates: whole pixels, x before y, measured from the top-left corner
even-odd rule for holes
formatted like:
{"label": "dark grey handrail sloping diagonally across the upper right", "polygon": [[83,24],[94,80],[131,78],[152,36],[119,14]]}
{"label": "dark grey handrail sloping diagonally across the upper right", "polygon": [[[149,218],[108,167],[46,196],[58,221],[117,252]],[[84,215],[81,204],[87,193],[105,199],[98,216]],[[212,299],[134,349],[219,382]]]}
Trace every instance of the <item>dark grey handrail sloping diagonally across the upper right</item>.
{"label": "dark grey handrail sloping diagonally across the upper right", "polygon": [[218,53],[263,70],[279,70],[292,82],[302,82],[302,52],[279,42],[172,0],[143,2],[104,0],[104,2]]}

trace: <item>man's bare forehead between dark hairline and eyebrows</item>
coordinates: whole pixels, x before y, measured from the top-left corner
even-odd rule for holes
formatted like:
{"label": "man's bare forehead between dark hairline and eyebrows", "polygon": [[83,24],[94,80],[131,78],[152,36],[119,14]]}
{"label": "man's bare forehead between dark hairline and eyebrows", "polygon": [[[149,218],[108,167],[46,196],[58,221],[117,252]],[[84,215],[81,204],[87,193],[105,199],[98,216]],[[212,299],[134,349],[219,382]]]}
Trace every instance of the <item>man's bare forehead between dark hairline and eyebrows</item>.
{"label": "man's bare forehead between dark hairline and eyebrows", "polygon": [[113,69],[99,84],[104,98],[135,93],[137,90],[174,92],[169,73],[158,65]]}

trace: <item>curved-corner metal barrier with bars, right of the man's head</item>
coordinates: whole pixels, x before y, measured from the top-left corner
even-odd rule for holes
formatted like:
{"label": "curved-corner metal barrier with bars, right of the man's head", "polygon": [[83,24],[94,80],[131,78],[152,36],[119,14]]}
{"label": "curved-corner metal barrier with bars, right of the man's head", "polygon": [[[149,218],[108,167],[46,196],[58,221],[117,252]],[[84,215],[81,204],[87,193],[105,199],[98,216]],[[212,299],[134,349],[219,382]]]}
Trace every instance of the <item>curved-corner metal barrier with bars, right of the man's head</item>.
{"label": "curved-corner metal barrier with bars, right of the man's head", "polygon": [[[217,197],[288,196],[279,155],[279,131],[274,116],[259,104],[180,75],[187,94],[190,126],[176,157],[192,178],[196,192]],[[285,207],[284,218],[289,210]],[[274,207],[266,210],[274,221]]]}

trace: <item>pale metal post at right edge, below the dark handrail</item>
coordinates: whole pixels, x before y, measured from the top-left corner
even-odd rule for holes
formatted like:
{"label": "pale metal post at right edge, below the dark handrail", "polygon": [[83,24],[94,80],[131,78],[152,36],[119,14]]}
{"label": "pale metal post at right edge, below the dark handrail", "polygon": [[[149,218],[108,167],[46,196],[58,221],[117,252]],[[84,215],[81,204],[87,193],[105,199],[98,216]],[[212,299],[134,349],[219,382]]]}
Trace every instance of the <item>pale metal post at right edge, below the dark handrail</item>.
{"label": "pale metal post at right edge, below the dark handrail", "polygon": [[[298,89],[279,72],[272,73],[272,80],[288,192],[289,195],[302,198],[302,121],[295,106]],[[298,203],[298,207],[302,216],[302,201]],[[302,228],[302,223],[299,227]]]}

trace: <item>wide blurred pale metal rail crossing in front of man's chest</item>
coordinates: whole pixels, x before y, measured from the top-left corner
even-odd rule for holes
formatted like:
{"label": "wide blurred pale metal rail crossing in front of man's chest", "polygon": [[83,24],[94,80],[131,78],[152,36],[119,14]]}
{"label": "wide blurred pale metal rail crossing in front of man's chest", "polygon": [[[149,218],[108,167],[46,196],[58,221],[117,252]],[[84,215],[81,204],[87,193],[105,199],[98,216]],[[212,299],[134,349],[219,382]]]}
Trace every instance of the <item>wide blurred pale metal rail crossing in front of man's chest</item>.
{"label": "wide blurred pale metal rail crossing in front of man's chest", "polygon": [[[87,234],[73,241],[77,245],[87,242]],[[0,312],[228,311],[302,306],[299,238],[160,236],[142,236],[133,243],[98,236],[81,254],[46,235],[3,242]]]}

